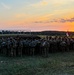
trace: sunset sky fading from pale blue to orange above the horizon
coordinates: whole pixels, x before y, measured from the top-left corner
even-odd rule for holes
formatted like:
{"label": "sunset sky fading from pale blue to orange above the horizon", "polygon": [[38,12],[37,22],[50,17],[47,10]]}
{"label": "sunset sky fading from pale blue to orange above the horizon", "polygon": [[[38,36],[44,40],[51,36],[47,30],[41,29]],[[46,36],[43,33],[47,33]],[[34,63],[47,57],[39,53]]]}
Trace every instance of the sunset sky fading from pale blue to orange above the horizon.
{"label": "sunset sky fading from pale blue to orange above the horizon", "polygon": [[74,0],[0,0],[0,30],[74,31]]}

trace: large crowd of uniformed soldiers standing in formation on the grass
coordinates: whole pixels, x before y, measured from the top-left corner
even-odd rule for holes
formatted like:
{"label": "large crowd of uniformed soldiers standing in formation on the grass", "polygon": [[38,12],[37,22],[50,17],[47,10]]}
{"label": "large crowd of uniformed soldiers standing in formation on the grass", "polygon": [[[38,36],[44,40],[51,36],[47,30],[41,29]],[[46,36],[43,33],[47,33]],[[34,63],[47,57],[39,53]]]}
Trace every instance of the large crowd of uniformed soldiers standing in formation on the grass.
{"label": "large crowd of uniformed soldiers standing in formation on the grass", "polygon": [[48,37],[24,39],[20,37],[0,38],[0,54],[5,56],[43,55],[74,50],[74,38]]}

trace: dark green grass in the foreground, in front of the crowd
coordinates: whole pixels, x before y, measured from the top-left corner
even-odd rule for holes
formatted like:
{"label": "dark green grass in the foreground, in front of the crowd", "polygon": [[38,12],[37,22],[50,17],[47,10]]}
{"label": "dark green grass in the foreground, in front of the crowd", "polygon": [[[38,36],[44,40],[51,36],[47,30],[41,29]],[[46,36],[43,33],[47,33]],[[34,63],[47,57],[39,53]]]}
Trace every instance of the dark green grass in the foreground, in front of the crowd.
{"label": "dark green grass in the foreground, in front of the crowd", "polygon": [[74,52],[42,56],[2,57],[0,75],[74,75]]}

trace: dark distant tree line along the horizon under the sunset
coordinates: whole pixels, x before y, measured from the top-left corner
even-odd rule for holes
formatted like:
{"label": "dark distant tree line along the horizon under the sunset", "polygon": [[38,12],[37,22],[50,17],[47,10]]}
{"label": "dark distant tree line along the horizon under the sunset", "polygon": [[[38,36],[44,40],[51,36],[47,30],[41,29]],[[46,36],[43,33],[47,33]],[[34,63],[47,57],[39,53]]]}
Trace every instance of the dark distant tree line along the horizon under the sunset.
{"label": "dark distant tree line along the horizon under the sunset", "polygon": [[[34,34],[34,35],[51,35],[51,36],[62,36],[66,35],[67,32],[65,31],[40,31],[40,32],[33,32],[33,31],[9,31],[9,30],[2,30],[0,34]],[[69,32],[71,36],[74,35],[74,32]]]}

